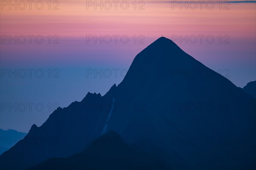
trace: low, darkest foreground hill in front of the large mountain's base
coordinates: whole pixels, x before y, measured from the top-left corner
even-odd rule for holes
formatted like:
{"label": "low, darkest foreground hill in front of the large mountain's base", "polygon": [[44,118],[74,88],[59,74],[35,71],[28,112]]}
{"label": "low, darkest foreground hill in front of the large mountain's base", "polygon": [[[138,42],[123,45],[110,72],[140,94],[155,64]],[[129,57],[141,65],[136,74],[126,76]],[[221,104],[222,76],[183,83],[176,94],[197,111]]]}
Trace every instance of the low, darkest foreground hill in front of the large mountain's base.
{"label": "low, darkest foreground hill in front of the large mountain's base", "polygon": [[125,144],[118,133],[109,131],[91,142],[81,153],[52,158],[28,170],[167,170],[164,161]]}

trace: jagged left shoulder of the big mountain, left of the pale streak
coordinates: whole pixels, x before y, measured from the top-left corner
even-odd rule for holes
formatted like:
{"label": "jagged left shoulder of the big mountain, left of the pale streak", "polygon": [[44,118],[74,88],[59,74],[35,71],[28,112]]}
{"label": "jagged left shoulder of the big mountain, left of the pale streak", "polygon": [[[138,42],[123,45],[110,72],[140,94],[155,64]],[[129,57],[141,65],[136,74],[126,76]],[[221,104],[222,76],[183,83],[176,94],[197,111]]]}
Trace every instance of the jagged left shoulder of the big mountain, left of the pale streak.
{"label": "jagged left shoulder of the big mountain, left of the pale streak", "polygon": [[112,98],[88,93],[81,102],[58,108],[41,127],[32,125],[23,140],[0,156],[0,168],[25,169],[48,158],[80,152],[91,138],[102,133],[109,111],[96,103],[103,101],[111,103]]}

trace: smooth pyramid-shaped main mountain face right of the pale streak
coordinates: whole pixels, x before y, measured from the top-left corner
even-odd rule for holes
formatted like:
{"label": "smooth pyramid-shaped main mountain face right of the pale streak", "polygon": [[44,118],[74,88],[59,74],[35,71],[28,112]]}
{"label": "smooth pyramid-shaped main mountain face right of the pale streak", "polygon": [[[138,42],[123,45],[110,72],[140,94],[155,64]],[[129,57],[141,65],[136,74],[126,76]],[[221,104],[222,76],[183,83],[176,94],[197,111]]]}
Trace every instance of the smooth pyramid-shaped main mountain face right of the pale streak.
{"label": "smooth pyramid-shaped main mountain face right of the pale streak", "polygon": [[175,169],[255,169],[256,100],[171,40],[140,52],[114,97],[143,109],[114,111],[108,130],[150,136]]}

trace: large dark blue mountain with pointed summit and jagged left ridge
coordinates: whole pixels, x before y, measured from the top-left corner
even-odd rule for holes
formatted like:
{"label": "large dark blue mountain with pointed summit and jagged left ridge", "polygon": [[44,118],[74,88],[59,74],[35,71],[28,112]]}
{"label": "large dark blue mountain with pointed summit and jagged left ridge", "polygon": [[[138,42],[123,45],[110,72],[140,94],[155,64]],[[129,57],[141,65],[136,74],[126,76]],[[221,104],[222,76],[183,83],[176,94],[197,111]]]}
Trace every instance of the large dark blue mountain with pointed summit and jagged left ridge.
{"label": "large dark blue mountain with pointed summit and jagged left ridge", "polygon": [[26,169],[66,158],[81,152],[88,139],[114,130],[128,143],[144,142],[145,152],[160,148],[172,169],[255,169],[255,104],[160,37],[137,54],[123,81],[107,94],[88,93],[81,102],[58,108],[41,127],[33,125],[0,156],[0,168]]}

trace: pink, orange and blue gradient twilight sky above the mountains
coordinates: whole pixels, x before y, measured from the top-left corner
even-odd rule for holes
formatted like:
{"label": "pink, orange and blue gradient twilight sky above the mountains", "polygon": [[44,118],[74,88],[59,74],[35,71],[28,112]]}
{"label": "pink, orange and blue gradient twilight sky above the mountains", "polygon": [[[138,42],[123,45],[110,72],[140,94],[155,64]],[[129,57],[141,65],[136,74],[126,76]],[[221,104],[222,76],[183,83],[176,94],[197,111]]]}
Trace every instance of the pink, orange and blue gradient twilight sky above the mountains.
{"label": "pink, orange and blue gradient twilight sky above the mountains", "polygon": [[[51,1],[51,10],[48,1],[43,1],[42,10],[33,5],[31,10],[28,6],[25,10],[15,10],[14,7],[9,10],[9,6],[5,6],[2,0],[0,2],[0,128],[3,129],[28,132],[32,124],[40,126],[45,122],[56,103],[60,107],[67,107],[71,102],[81,101],[88,91],[105,94],[114,83],[122,81],[120,71],[127,70],[134,57],[162,35],[239,87],[256,79],[255,2],[222,2],[221,7],[214,3],[211,10],[206,4],[202,5],[202,9],[199,6],[195,10],[180,9],[180,4],[175,6],[170,1],[136,1],[136,9],[134,1],[128,1],[127,10],[122,9],[120,3],[117,9],[112,3],[110,10],[101,10],[100,7],[95,10],[94,6],[87,8],[84,0],[60,0],[57,1],[59,4]],[[55,5],[58,5],[58,10],[52,10]],[[138,10],[141,5],[144,9]],[[30,44],[27,39],[24,44],[9,43],[9,40],[3,40],[3,35],[42,35],[44,42],[38,44],[32,39]],[[51,40],[58,35],[59,43],[49,44],[49,35]],[[129,42],[124,44],[118,38],[117,43],[113,39],[110,44],[94,43],[93,40],[87,43],[87,35],[127,35]],[[137,38],[135,43],[134,35]],[[180,39],[175,40],[175,35],[204,35],[204,38],[202,43],[198,39],[193,44],[194,39],[188,43],[180,42]],[[214,37],[212,44],[205,38],[209,35]],[[144,43],[138,43],[139,40]],[[10,78],[8,74],[3,74],[6,69],[41,69],[44,76],[38,78],[32,72],[32,77],[16,78],[12,75]],[[116,77],[101,78],[87,76],[88,69],[119,71]],[[57,77],[54,78],[54,74]],[[9,111],[3,108],[3,103],[41,103],[44,110],[35,111],[32,106],[32,111],[28,108],[24,112],[19,109]]]}

